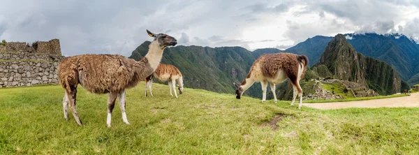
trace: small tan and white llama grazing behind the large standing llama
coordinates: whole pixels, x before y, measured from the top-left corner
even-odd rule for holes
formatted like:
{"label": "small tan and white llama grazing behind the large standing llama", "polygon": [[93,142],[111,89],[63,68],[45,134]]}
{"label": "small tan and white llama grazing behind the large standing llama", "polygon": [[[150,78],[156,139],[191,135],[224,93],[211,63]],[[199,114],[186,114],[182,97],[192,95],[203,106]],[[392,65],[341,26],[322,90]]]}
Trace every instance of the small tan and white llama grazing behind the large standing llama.
{"label": "small tan and white llama grazing behind the large standing llama", "polygon": [[183,93],[183,77],[179,69],[170,64],[159,64],[159,66],[157,66],[156,68],[156,71],[154,71],[152,75],[149,75],[147,78],[145,78],[145,96],[147,96],[147,87],[149,88],[150,94],[154,96],[153,91],[152,91],[153,77],[155,77],[160,82],[168,81],[169,89],[170,89],[170,96],[173,96],[172,95],[172,89],[173,89],[173,91],[175,91],[175,96],[177,98],[176,89],[175,89],[176,81],[178,83],[177,86],[179,87],[178,88],[179,94]]}

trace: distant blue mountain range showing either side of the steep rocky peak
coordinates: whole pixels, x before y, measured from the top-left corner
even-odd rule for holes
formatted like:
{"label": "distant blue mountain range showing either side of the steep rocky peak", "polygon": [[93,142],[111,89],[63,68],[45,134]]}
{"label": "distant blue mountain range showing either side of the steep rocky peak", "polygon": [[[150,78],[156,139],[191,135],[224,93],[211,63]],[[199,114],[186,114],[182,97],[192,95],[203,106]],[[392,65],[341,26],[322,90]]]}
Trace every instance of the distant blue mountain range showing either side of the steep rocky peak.
{"label": "distant blue mountain range showing either side of the steep rocky peak", "polygon": [[[403,80],[413,85],[418,82],[419,45],[402,34],[344,34],[355,51],[374,57],[393,66]],[[310,65],[320,60],[321,53],[332,37],[314,36],[286,51],[306,54]],[[322,50],[323,49],[323,50]],[[416,75],[416,76],[415,76]],[[413,80],[411,80],[413,78]]]}

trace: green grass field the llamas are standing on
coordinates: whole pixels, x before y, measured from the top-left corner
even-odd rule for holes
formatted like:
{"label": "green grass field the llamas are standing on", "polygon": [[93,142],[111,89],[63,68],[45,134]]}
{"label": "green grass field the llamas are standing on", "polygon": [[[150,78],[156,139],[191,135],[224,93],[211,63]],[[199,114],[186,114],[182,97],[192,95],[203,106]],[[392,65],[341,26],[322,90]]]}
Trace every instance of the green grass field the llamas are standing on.
{"label": "green grass field the llamas are standing on", "polygon": [[107,95],[79,87],[78,112],[64,120],[59,86],[0,89],[0,154],[419,154],[419,108],[316,110],[144,82],[126,93],[131,125]]}

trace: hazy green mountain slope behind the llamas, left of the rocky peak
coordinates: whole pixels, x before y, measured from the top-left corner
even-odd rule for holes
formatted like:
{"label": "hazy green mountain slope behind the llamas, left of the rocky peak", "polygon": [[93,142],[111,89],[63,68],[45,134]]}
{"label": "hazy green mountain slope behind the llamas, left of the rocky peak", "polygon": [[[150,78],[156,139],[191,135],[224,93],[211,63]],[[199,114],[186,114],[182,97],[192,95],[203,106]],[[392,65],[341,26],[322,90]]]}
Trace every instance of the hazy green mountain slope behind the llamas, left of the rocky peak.
{"label": "hazy green mountain slope behind the llamas, left of the rocky peak", "polygon": [[[133,50],[132,59],[139,60],[147,54],[149,41]],[[277,49],[262,49],[250,52],[243,47],[168,47],[164,50],[161,63],[172,64],[184,75],[185,87],[206,89],[233,94],[233,82],[241,83],[253,61],[261,54],[282,52]],[[260,84],[254,84],[244,94],[262,96]]]}

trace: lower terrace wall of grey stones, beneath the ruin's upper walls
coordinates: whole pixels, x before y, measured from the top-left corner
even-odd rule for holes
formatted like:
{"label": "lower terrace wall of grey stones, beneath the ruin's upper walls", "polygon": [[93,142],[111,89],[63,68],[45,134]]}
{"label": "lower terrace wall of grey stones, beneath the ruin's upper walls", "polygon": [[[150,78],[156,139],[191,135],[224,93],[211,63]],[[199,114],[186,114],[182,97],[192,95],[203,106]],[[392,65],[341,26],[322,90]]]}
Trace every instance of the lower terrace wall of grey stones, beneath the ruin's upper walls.
{"label": "lower terrace wall of grey stones, beneath the ruin's upper walls", "polygon": [[58,84],[59,62],[0,61],[0,87]]}

